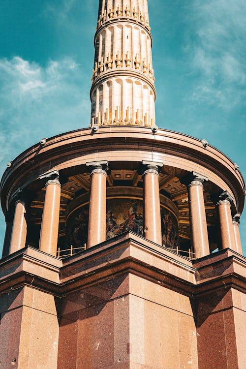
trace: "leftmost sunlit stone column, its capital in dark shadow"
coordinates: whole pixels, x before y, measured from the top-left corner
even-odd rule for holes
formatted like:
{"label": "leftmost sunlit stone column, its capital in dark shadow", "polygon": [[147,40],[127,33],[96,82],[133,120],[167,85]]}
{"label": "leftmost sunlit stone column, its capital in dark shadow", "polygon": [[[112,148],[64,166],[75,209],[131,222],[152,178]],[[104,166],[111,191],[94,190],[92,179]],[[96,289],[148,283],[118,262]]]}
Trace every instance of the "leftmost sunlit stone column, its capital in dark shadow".
{"label": "leftmost sunlit stone column, its capital in dark shadow", "polygon": [[23,190],[15,195],[15,213],[11,234],[9,254],[26,246],[27,239],[27,198]]}

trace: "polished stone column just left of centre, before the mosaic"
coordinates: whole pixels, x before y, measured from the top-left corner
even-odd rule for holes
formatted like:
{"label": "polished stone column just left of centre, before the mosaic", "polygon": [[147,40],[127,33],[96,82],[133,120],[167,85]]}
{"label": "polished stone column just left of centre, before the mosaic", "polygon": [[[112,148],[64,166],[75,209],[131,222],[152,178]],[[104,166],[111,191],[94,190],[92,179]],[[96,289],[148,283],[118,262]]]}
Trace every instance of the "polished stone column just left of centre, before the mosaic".
{"label": "polished stone column just left of centre, before the mosaic", "polygon": [[108,162],[93,161],[86,164],[91,171],[91,197],[87,247],[106,240],[106,188]]}

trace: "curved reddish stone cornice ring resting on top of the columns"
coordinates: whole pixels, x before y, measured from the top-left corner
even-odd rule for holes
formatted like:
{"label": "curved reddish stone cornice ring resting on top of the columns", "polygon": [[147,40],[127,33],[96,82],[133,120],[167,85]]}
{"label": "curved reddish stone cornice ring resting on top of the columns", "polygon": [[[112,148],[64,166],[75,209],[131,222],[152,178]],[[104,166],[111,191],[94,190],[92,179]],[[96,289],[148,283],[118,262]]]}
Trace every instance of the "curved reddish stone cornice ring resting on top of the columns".
{"label": "curved reddish stone cornice ring resting on top of the columns", "polygon": [[[95,134],[92,134],[90,128],[85,128],[47,139],[44,147],[37,144],[26,150],[13,160],[11,167],[3,174],[0,183],[2,209],[5,211],[6,201],[19,186],[38,180],[42,173],[53,166],[59,167],[66,162],[68,167],[76,163],[78,165],[78,158],[83,159],[90,153],[93,155],[95,150],[103,154],[108,151],[113,153],[116,150],[125,152],[125,149],[172,155],[198,164],[201,171],[203,167],[207,168],[228,184],[238,204],[238,212],[242,213],[245,197],[244,179],[226,155],[212,146],[205,150],[200,140],[182,133],[158,129],[157,133],[153,134],[150,128],[140,126],[100,127]],[[76,163],[69,164],[72,158]]]}

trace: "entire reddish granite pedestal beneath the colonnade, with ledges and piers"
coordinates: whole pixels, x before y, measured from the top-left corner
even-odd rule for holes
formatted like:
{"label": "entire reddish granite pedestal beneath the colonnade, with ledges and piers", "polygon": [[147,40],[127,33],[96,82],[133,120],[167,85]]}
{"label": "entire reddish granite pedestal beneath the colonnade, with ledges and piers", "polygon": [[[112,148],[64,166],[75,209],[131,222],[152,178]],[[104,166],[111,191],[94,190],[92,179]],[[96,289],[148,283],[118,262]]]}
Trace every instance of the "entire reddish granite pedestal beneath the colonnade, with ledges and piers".
{"label": "entire reddish granite pedestal beneath the colonnade, with ledges and piers", "polygon": [[245,369],[245,277],[230,249],[192,262],[132,233],[63,261],[27,247],[0,261],[1,365]]}

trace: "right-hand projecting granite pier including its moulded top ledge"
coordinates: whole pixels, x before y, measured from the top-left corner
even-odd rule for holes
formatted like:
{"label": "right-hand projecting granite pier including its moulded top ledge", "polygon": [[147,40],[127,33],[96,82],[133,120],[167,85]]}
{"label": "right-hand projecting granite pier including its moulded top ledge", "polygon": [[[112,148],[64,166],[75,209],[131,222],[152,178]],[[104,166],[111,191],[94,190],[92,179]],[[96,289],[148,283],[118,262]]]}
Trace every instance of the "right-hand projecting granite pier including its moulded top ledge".
{"label": "right-hand projecting granite pier including its moulded top ledge", "polygon": [[193,263],[200,289],[193,303],[199,369],[246,367],[244,261],[226,249]]}

